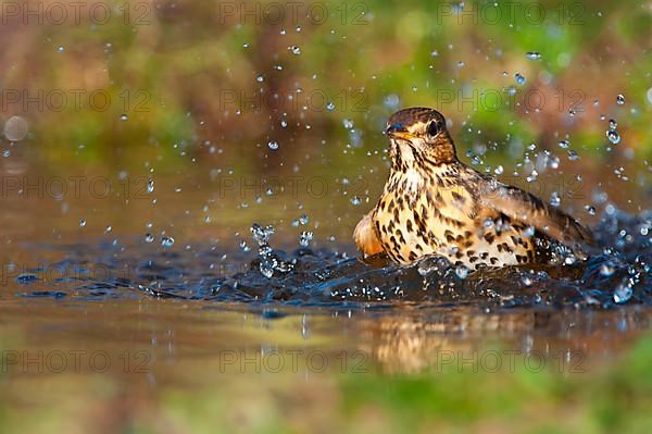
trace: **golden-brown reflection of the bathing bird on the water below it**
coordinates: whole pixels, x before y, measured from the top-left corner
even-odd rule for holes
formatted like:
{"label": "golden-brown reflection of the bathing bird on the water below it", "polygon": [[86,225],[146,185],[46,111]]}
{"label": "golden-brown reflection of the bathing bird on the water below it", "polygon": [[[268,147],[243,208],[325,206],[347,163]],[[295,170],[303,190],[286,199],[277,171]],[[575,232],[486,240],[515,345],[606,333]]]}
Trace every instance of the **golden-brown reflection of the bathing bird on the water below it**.
{"label": "golden-brown reflection of the bathing bird on the water below it", "polygon": [[462,309],[435,312],[427,320],[393,317],[366,325],[367,350],[391,372],[442,372],[469,364],[482,370],[523,357],[562,372],[586,372],[599,359],[624,348],[636,332],[647,330],[649,313],[518,310],[478,314]]}

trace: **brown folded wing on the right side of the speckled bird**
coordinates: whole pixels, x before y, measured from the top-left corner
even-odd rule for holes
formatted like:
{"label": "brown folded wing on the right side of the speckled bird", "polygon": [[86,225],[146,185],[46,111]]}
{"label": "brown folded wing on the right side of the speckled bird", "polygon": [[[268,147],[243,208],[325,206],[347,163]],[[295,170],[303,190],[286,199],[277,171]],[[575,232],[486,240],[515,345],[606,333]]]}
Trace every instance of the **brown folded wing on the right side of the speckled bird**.
{"label": "brown folded wing on the right side of the speckled bird", "polygon": [[591,231],[570,215],[521,188],[502,184],[492,177],[480,176],[484,181],[484,188],[478,195],[481,206],[535,226],[568,247],[595,246]]}

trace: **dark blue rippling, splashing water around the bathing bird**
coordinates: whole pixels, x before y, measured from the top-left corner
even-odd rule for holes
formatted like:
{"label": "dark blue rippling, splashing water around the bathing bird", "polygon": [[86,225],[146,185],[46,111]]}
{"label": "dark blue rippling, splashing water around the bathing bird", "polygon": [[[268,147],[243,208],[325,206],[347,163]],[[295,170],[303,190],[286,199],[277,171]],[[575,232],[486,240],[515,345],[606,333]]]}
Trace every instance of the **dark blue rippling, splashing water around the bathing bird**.
{"label": "dark blue rippling, splashing water around the bathing bird", "polygon": [[[301,220],[308,223],[305,215]],[[60,261],[20,273],[8,270],[8,275],[15,274],[12,278],[20,290],[14,295],[21,298],[101,301],[147,296],[335,310],[343,306],[379,309],[406,301],[422,308],[611,309],[616,303],[652,303],[651,222],[651,212],[604,214],[595,235],[605,252],[586,263],[569,261],[569,265],[469,273],[441,258],[426,258],[410,266],[383,258],[363,262],[333,248],[311,249],[310,231],[301,232],[299,248],[275,249],[274,228],[256,224],[251,233],[259,256],[252,260],[239,253],[237,261],[229,251],[231,260],[224,262],[225,251],[210,245],[168,251],[174,240],[163,236],[165,249],[159,251],[139,244],[59,246]]]}

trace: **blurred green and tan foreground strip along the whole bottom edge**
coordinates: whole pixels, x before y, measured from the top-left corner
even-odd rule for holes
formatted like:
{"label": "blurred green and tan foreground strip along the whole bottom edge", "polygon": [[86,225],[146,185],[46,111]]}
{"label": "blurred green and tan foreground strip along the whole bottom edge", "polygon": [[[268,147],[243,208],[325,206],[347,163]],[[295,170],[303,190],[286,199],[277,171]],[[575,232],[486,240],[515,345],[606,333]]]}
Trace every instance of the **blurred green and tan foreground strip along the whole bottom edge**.
{"label": "blurred green and tan foreground strip along the whole bottom edge", "polygon": [[[287,372],[225,373],[221,362],[200,358],[180,379],[155,387],[138,375],[13,379],[0,396],[0,426],[3,432],[587,434],[652,427],[650,337],[584,373],[581,365],[559,364],[563,358],[552,355],[544,365],[540,356],[531,364],[523,356],[513,364],[504,358],[496,371],[478,368],[477,356],[475,363],[466,357],[465,364],[457,359],[438,368],[443,358],[436,357],[431,371],[411,374],[342,373],[335,367],[310,375],[292,372],[289,363]],[[121,393],[126,381],[142,383],[147,392]],[[61,399],[43,396],[43,387],[62,390]],[[35,413],[39,417],[28,417]]]}

